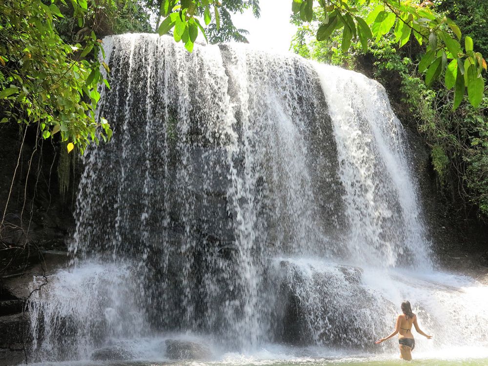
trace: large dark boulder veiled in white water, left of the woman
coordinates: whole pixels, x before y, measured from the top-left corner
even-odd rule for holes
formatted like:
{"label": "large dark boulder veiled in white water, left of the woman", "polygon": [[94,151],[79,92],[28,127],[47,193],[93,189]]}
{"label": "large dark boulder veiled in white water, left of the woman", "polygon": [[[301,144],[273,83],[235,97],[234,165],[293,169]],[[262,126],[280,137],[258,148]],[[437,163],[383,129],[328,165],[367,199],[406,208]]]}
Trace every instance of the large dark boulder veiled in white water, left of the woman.
{"label": "large dark boulder veiled in white water, left of the woman", "polygon": [[[363,286],[361,268],[327,264],[280,263],[278,341],[293,345],[368,348],[383,326],[377,299]],[[376,319],[378,318],[378,319]]]}

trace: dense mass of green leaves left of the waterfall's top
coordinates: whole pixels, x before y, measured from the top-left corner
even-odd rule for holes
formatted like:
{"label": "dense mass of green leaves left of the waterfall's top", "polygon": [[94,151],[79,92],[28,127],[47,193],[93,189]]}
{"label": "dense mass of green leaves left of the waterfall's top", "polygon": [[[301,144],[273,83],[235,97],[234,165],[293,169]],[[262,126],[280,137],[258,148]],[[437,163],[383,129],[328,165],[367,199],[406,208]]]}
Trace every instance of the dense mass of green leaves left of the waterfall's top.
{"label": "dense mass of green leaves left of the waterfall's top", "polygon": [[[84,24],[97,3],[71,0],[73,19]],[[38,125],[43,139],[56,136],[81,152],[96,135],[106,139],[108,122],[100,128],[95,119],[98,83],[108,85],[100,71],[108,72],[108,66],[98,58],[102,41],[88,31],[78,43],[66,43],[56,29],[64,15],[54,2],[13,0],[9,7],[12,11],[2,11],[2,122]]]}

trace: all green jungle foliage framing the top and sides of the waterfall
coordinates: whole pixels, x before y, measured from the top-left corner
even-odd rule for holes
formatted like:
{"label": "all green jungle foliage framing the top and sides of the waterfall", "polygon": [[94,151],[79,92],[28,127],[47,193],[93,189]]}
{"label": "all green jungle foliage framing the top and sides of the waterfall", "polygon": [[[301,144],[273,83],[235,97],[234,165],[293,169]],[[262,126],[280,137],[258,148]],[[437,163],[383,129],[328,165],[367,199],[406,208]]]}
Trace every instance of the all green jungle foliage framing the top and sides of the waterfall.
{"label": "all green jungle foliage framing the top and sides of the waterfall", "polygon": [[[431,147],[446,190],[488,217],[484,94],[488,5],[475,0],[288,0],[298,26],[292,50],[379,80],[395,73],[404,102]],[[191,52],[201,41],[246,41],[232,14],[258,0],[0,0],[0,122],[36,128],[81,153],[110,139],[95,118],[97,85],[109,85],[102,37],[170,33]],[[279,30],[270,29],[273,32]]]}

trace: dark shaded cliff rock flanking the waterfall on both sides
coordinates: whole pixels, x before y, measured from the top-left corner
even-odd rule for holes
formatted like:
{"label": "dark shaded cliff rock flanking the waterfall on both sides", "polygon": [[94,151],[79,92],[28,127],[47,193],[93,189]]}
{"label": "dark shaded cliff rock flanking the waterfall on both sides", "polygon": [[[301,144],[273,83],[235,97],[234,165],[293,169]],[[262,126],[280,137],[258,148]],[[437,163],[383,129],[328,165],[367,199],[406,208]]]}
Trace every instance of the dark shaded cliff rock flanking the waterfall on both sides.
{"label": "dark shaded cliff rock flanking the waterfall on both sides", "polygon": [[[478,220],[474,209],[464,210],[462,204],[444,194],[416,123],[405,105],[398,102],[398,86],[392,80],[386,89],[393,109],[405,123],[423,214],[438,263],[452,270],[468,271],[486,281],[488,227]],[[18,125],[0,126],[0,218],[5,210],[0,227],[0,334],[8,335],[0,337],[0,365],[16,364],[23,359],[22,334],[26,333],[22,304],[29,294],[26,288],[29,276],[21,274],[35,264],[38,268],[31,274],[45,272],[45,266],[39,266],[46,259],[45,251],[65,251],[66,240],[73,230],[81,163],[76,163],[74,169],[69,166],[70,183],[62,197],[58,182],[60,148],[59,142],[38,140],[33,127],[24,134]],[[58,263],[58,259],[53,262]],[[12,281],[16,278],[22,280]],[[25,288],[17,288],[13,293],[14,283]]]}

